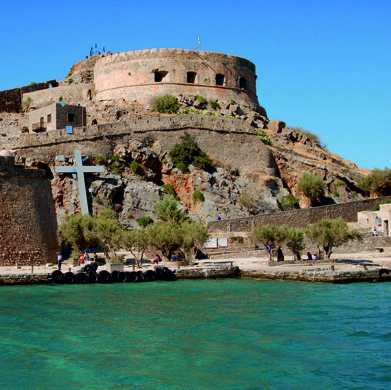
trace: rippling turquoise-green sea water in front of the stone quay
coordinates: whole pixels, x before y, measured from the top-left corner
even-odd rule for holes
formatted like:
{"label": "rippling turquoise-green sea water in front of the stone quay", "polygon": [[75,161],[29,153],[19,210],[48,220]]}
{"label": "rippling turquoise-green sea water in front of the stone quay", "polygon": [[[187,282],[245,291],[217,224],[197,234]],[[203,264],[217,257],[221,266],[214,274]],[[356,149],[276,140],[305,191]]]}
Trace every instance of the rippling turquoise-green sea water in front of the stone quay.
{"label": "rippling turquoise-green sea water in front of the stone quay", "polygon": [[0,288],[1,389],[390,389],[391,283]]}

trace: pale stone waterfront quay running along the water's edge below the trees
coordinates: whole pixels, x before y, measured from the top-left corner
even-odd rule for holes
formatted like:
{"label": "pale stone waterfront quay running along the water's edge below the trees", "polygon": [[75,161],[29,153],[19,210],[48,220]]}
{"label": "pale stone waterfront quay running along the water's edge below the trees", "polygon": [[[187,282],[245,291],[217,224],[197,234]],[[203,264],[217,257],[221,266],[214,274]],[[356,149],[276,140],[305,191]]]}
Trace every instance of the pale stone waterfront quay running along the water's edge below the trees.
{"label": "pale stone waterfront quay running along the water's edge below the trees", "polygon": [[[127,258],[126,253],[124,257]],[[258,251],[254,257],[197,260],[192,266],[173,262],[159,265],[176,272],[178,279],[244,277],[328,283],[391,281],[391,248],[385,248],[383,253],[335,254],[327,261],[295,262],[293,258],[286,256],[284,262],[269,262],[264,251]],[[34,268],[0,267],[0,282],[8,284],[7,280],[12,278],[15,281],[12,284],[37,283],[45,280],[55,269],[57,265],[54,264]],[[100,266],[98,271],[102,269],[108,267]],[[143,270],[147,269],[153,269],[150,261],[143,264]],[[70,262],[63,263],[63,272],[76,273],[79,270],[80,267],[74,267]],[[132,265],[125,265],[124,271],[132,270]]]}

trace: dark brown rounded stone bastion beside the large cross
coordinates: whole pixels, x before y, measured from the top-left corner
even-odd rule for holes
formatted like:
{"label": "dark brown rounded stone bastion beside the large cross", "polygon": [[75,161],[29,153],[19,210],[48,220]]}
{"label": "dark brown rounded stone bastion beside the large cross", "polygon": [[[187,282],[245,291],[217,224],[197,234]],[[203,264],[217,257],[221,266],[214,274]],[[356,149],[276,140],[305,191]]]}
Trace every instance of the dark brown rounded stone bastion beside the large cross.
{"label": "dark brown rounded stone bastion beside the large cross", "polygon": [[0,265],[56,262],[57,222],[49,180],[0,157]]}

